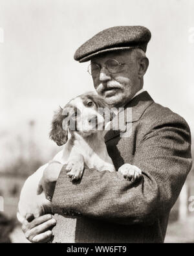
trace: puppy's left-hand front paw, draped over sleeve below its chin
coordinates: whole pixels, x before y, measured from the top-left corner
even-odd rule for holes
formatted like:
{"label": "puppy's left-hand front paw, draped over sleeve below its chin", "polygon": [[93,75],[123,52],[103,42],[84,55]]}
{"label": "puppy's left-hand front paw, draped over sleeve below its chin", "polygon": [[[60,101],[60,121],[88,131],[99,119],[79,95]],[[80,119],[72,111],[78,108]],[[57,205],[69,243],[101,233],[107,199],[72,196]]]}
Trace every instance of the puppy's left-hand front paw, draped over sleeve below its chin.
{"label": "puppy's left-hand front paw, draped over sleeve below its chin", "polygon": [[69,176],[72,181],[80,180],[83,174],[83,169],[84,169],[83,156],[69,159],[66,167],[67,176]]}

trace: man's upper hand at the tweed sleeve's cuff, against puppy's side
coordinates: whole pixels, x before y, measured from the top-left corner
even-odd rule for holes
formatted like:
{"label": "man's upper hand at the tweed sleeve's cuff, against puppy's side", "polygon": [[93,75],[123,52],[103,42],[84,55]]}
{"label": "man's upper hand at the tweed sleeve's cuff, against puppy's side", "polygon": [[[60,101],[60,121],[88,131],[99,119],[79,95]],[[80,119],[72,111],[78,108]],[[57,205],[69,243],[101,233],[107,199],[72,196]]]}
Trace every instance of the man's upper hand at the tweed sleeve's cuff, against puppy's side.
{"label": "man's upper hand at the tweed sleeve's cuff, against puppy's side", "polygon": [[43,176],[39,181],[37,194],[41,194],[44,191],[48,200],[52,200],[56,181],[58,180],[59,173],[61,172],[63,165],[61,163],[50,163],[44,170]]}

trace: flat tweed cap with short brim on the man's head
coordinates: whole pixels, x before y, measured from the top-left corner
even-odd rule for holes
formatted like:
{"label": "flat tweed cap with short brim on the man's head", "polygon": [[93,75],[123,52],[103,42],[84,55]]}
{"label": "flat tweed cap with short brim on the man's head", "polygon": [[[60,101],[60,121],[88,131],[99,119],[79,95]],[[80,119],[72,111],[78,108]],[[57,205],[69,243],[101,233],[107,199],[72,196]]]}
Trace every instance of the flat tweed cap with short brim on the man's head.
{"label": "flat tweed cap with short brim on the man's head", "polygon": [[140,48],[144,52],[151,38],[151,32],[142,26],[120,26],[102,30],[83,43],[74,54],[74,59],[87,62],[102,52]]}

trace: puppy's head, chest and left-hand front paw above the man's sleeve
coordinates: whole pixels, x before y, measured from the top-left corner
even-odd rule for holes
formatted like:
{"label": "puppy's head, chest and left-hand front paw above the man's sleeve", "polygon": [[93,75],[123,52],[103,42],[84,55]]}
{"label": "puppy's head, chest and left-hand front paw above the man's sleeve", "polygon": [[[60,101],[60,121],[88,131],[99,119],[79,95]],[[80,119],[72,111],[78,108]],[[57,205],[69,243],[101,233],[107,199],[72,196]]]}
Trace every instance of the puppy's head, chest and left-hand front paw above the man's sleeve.
{"label": "puppy's head, chest and left-hand front paw above the man's sleeve", "polygon": [[[105,119],[110,121],[111,112],[105,100],[94,93],[70,100],[54,115],[50,138],[59,146],[65,144],[54,160],[67,164],[73,180],[81,178],[83,161],[88,168],[115,171],[103,139]],[[81,157],[83,161],[76,161]]]}

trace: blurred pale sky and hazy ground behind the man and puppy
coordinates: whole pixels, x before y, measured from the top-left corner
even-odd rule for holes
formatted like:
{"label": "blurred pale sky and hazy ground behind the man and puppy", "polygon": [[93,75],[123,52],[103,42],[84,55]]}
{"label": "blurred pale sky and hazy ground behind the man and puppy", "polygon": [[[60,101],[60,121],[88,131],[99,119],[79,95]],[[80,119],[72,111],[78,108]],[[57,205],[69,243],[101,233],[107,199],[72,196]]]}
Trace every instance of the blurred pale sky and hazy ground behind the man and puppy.
{"label": "blurred pale sky and hazy ground behind the man and puppy", "polygon": [[[61,149],[48,139],[54,110],[93,89],[88,63],[73,56],[100,30],[151,30],[144,87],[194,134],[193,9],[193,0],[0,0],[0,242],[27,242],[16,220],[21,187]],[[165,242],[194,242],[193,181],[191,170]]]}

